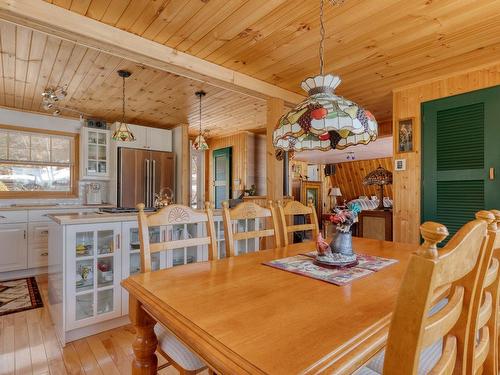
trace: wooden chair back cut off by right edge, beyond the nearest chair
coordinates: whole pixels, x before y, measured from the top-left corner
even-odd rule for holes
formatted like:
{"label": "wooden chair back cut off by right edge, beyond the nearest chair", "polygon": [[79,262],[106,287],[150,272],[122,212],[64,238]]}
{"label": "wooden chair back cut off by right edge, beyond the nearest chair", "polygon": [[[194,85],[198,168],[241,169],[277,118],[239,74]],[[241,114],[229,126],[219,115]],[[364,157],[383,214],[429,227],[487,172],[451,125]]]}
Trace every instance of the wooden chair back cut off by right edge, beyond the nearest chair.
{"label": "wooden chair back cut off by right edge, beyond the nearest chair", "polygon": [[[498,324],[500,323],[500,320],[498,315],[500,314],[500,211],[492,210],[490,212],[494,215],[495,220],[488,220],[489,225],[488,239],[486,242],[486,254],[491,253],[492,258],[484,277],[484,294],[482,296],[483,303],[478,316],[479,322],[477,324],[477,328],[481,330],[479,335],[480,341],[479,344],[474,347],[474,356],[470,356],[471,358],[469,358],[468,362],[472,363],[471,366],[477,368],[477,372],[480,372],[480,367],[482,365],[482,373],[486,375],[498,374],[499,366]],[[489,315],[489,319],[486,322],[489,335],[489,348],[483,363],[485,350],[484,339],[486,337],[486,334],[483,332],[483,326],[487,315]]]}

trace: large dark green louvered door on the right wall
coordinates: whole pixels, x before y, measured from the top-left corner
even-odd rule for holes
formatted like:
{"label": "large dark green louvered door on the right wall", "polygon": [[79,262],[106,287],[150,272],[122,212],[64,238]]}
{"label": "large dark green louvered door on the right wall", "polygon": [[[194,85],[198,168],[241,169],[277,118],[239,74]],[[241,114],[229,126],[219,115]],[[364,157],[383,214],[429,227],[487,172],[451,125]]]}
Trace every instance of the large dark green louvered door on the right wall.
{"label": "large dark green louvered door on the right wall", "polygon": [[422,119],[422,221],[454,234],[500,209],[500,86],[423,103]]}

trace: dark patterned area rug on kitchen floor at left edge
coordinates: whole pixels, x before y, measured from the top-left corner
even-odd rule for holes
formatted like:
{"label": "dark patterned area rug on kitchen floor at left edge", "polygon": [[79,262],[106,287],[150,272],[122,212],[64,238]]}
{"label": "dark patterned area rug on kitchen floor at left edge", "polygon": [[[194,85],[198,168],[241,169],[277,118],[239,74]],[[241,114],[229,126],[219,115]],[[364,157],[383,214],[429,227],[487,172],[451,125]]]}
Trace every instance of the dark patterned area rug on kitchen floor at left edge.
{"label": "dark patterned area rug on kitchen floor at left edge", "polygon": [[0,316],[43,307],[34,277],[0,281]]}

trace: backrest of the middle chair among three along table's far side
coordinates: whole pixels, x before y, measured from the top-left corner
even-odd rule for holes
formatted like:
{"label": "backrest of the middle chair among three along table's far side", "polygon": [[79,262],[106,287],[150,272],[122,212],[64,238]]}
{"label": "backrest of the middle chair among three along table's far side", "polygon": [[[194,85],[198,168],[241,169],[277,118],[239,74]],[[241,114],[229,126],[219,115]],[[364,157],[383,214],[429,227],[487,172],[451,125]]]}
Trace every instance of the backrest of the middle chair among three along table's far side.
{"label": "backrest of the middle chair among three along table's far side", "polygon": [[[273,237],[274,246],[281,247],[281,238],[278,230],[276,210],[272,201],[268,202],[269,208],[259,206],[254,202],[242,202],[234,208],[229,208],[228,202],[222,202],[222,217],[224,221],[224,236],[226,241],[226,257],[235,255],[235,241],[250,238]],[[270,221],[271,228],[253,231],[236,232],[234,221],[247,219],[263,219],[263,223]],[[262,223],[262,222],[261,222]]]}

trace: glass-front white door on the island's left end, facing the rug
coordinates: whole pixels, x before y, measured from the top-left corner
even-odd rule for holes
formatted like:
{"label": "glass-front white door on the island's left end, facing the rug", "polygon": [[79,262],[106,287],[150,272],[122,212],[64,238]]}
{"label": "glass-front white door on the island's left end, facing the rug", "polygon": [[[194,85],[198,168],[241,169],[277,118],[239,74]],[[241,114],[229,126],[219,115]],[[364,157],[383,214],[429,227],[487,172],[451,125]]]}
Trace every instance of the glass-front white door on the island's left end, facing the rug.
{"label": "glass-front white door on the island's left end, facing the rug", "polygon": [[121,315],[121,223],[70,226],[66,232],[66,319],[70,329]]}

